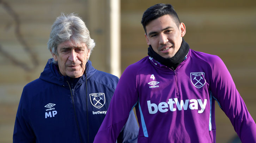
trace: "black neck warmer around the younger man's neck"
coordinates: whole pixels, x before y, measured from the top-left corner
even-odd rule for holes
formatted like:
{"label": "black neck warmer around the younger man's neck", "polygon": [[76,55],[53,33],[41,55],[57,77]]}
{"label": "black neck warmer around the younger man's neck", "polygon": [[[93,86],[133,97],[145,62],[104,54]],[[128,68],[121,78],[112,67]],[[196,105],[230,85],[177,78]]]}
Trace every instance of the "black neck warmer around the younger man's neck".
{"label": "black neck warmer around the younger man's neck", "polygon": [[178,65],[186,59],[188,52],[189,52],[189,45],[187,42],[185,42],[183,38],[182,38],[181,47],[179,48],[177,53],[171,58],[164,58],[160,56],[159,54],[154,52],[151,45],[148,47],[149,56],[153,57],[154,60],[165,65],[166,67],[169,67],[172,70],[175,70],[178,67]]}

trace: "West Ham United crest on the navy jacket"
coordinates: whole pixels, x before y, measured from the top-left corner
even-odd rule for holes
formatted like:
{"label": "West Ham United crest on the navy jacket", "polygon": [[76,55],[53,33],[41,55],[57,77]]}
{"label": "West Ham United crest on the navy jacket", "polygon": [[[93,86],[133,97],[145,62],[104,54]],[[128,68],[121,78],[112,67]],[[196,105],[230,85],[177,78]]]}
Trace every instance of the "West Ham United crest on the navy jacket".
{"label": "West Ham United crest on the navy jacket", "polygon": [[90,94],[90,100],[94,107],[102,108],[105,104],[105,94],[104,93],[92,93]]}

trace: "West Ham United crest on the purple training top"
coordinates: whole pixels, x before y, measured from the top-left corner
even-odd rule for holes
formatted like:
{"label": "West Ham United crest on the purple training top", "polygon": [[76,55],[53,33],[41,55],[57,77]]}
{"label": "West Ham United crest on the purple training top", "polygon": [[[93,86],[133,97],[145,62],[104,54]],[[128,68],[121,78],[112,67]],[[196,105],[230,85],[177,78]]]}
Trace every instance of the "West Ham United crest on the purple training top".
{"label": "West Ham United crest on the purple training top", "polygon": [[190,73],[190,80],[196,88],[201,88],[205,85],[206,80],[204,77],[205,73],[203,72]]}

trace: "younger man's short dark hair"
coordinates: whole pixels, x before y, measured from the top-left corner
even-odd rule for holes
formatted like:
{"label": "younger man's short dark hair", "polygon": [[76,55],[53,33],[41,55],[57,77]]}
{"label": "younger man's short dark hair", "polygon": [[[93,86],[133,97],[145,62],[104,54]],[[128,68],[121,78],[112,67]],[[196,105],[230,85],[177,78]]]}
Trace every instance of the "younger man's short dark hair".
{"label": "younger man's short dark hair", "polygon": [[146,32],[146,25],[151,22],[152,20],[155,20],[163,15],[169,14],[172,16],[172,18],[175,20],[176,25],[179,27],[179,24],[181,23],[179,21],[178,15],[173,9],[171,4],[156,4],[154,6],[151,6],[148,8],[141,19],[141,24]]}

